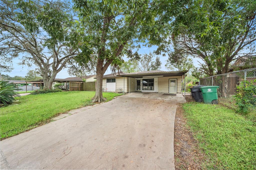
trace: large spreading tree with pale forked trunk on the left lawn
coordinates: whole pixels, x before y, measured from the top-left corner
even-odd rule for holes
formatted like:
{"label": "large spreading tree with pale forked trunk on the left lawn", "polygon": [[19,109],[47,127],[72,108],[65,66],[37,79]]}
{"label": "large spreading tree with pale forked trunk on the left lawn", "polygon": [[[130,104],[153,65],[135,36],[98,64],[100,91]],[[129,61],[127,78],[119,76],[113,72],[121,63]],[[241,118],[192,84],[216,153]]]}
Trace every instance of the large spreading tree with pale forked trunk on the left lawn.
{"label": "large spreading tree with pale forked trunk on the left lawn", "polygon": [[20,58],[19,64],[35,64],[44,87],[51,88],[57,73],[79,54],[70,45],[76,36],[73,15],[68,2],[2,0],[0,56]]}

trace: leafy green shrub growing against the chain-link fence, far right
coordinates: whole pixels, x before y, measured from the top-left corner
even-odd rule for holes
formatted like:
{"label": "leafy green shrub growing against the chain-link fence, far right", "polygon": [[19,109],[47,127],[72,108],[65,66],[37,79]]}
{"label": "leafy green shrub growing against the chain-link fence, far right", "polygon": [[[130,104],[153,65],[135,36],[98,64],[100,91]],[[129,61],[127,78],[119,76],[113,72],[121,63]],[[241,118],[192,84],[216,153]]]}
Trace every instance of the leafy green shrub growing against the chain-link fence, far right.
{"label": "leafy green shrub growing against the chain-link fence, far right", "polygon": [[238,112],[247,114],[250,107],[256,107],[256,80],[254,81],[242,81],[237,86],[237,94],[234,96],[236,105],[238,106]]}

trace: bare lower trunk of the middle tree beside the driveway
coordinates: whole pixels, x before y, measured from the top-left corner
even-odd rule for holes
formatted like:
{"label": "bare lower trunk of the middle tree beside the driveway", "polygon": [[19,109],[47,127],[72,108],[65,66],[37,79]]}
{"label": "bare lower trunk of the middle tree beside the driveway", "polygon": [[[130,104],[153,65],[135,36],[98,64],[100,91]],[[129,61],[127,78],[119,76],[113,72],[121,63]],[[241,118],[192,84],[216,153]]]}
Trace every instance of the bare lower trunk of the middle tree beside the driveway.
{"label": "bare lower trunk of the middle tree beside the driveway", "polygon": [[95,102],[101,102],[101,101],[106,101],[106,99],[102,95],[102,80],[103,80],[103,75],[105,72],[103,72],[102,68],[98,69],[98,66],[96,68],[96,74],[97,74],[97,79],[96,79],[96,92],[94,97],[92,98],[92,103]]}

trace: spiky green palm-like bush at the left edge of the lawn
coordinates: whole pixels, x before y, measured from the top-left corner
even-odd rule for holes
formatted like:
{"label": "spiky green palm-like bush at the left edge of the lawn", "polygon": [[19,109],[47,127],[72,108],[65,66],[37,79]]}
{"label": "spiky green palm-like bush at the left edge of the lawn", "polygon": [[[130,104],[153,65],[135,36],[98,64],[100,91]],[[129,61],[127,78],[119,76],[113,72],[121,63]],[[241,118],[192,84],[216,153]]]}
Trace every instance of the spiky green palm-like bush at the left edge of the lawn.
{"label": "spiky green palm-like bush at the left edge of the lawn", "polygon": [[17,87],[14,84],[10,84],[8,81],[0,81],[0,103],[4,105],[12,104],[15,101],[15,97],[20,96],[18,92],[15,92]]}

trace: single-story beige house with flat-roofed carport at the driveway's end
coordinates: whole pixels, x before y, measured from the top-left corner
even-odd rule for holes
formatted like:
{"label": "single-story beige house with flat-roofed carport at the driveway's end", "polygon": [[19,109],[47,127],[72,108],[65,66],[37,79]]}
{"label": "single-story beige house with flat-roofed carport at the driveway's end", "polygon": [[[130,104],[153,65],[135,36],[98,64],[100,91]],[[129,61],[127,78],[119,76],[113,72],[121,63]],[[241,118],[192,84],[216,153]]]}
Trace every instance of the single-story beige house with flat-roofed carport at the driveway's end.
{"label": "single-story beige house with flat-roofed carport at the driveway's end", "polygon": [[106,92],[181,93],[182,80],[188,70],[143,71],[107,74],[103,76],[102,90]]}

